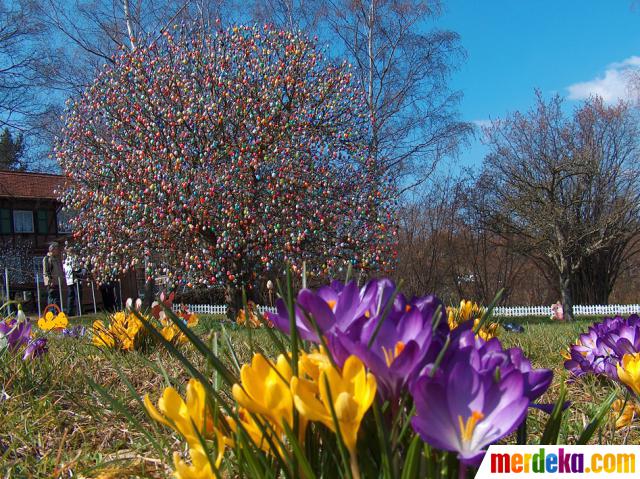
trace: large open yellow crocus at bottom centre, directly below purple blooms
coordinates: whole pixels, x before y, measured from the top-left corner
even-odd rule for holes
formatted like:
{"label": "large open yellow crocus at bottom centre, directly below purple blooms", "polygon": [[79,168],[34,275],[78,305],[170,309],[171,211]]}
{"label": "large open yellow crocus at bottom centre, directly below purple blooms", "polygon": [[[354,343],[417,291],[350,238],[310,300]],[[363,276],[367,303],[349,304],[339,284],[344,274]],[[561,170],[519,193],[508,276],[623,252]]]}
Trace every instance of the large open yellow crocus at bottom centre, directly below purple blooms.
{"label": "large open yellow crocus at bottom centre, directly below purple blooms", "polygon": [[375,377],[366,372],[362,361],[356,356],[349,356],[342,372],[332,366],[320,368],[315,385],[294,377],[291,379],[291,391],[302,416],[309,421],[319,421],[335,432],[329,402],[331,396],[345,446],[355,458],[360,423],[376,395]]}

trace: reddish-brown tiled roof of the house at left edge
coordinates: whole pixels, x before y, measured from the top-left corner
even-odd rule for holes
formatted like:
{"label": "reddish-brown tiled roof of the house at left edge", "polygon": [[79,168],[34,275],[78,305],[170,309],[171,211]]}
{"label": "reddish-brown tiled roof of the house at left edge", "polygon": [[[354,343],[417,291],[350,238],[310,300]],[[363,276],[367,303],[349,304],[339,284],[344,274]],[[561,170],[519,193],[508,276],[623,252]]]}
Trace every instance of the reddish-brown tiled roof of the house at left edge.
{"label": "reddish-brown tiled roof of the house at left edge", "polygon": [[55,190],[64,176],[26,171],[0,171],[0,198],[57,199]]}

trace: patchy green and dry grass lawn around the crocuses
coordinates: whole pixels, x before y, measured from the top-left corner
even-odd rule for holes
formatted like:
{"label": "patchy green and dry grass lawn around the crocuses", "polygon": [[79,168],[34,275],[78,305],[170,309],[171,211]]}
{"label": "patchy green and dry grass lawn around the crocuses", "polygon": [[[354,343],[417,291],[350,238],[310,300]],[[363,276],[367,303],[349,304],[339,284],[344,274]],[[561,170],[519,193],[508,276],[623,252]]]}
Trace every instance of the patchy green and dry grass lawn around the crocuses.
{"label": "patchy green and dry grass lawn around the crocuses", "polygon": [[[94,319],[85,316],[71,323],[90,326]],[[230,365],[249,361],[252,351],[270,344],[265,331],[227,323],[222,333],[220,319],[201,316],[195,330],[208,341],[216,331],[219,355]],[[524,318],[519,320],[524,333],[501,334],[505,345],[521,347],[534,366],[554,370],[554,384],[543,402],[553,402],[567,379],[561,351],[592,321],[552,323]],[[181,350],[196,366],[206,369],[190,345]],[[39,361],[23,364],[5,358],[0,364],[0,477],[167,477],[169,471],[160,461],[162,452],[132,426],[131,418],[117,412],[89,384],[94,381],[117,397],[146,434],[163,441],[159,448],[167,453],[164,459],[170,464],[170,452],[178,450],[179,441],[168,440],[171,436],[166,431],[160,434],[159,427],[147,420],[137,396],[148,393],[155,402],[167,381],[178,386],[187,381],[189,376],[180,363],[166,351],[111,353],[95,348],[87,338],[52,335],[49,353]],[[572,407],[563,425],[563,443],[575,441],[578,429],[612,387],[595,378],[568,383]],[[541,433],[544,413],[534,412],[530,417],[528,433],[533,439]],[[621,444],[639,439],[636,428],[616,432],[610,420],[593,441]]]}

